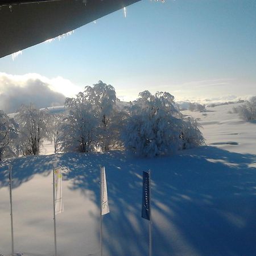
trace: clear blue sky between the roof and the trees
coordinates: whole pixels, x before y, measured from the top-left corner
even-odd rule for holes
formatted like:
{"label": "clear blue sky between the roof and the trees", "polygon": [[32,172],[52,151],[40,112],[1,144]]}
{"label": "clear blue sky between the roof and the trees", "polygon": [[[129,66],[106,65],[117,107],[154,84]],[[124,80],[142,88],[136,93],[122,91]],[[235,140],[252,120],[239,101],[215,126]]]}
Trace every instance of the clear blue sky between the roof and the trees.
{"label": "clear blue sky between the roof and the trees", "polygon": [[145,89],[176,100],[256,95],[256,1],[142,0],[126,18],[120,10],[0,59],[0,72],[39,74],[65,96],[98,80],[124,100]]}

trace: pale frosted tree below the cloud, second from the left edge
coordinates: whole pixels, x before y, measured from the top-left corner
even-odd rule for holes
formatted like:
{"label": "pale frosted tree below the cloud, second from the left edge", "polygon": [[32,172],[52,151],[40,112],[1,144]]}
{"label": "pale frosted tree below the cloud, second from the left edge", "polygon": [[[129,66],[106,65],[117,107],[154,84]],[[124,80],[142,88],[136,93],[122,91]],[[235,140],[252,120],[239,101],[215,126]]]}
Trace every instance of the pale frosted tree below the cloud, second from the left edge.
{"label": "pale frosted tree below the cloud, second from the left edge", "polygon": [[47,110],[37,109],[35,105],[22,105],[15,115],[19,123],[19,144],[23,155],[38,155],[43,138],[49,138]]}

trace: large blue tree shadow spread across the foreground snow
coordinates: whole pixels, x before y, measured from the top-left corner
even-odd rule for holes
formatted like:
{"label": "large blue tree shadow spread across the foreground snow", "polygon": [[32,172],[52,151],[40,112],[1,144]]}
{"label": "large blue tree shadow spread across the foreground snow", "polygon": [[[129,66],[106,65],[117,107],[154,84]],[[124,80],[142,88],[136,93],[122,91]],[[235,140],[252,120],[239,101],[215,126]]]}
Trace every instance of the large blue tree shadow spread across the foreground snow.
{"label": "large blue tree shadow spread across the foreground snow", "polygon": [[[256,156],[203,146],[173,156],[135,158],[121,151],[13,160],[14,186],[54,162],[69,169],[69,189],[100,207],[100,165],[106,168],[110,214],[104,216],[105,255],[147,255],[148,221],[141,218],[142,171],[151,169],[153,255],[255,255]],[[19,168],[18,168],[19,167]],[[15,171],[17,170],[17,171]],[[6,167],[1,185],[8,185]],[[90,194],[92,195],[92,194]],[[92,216],[100,220],[98,215]]]}

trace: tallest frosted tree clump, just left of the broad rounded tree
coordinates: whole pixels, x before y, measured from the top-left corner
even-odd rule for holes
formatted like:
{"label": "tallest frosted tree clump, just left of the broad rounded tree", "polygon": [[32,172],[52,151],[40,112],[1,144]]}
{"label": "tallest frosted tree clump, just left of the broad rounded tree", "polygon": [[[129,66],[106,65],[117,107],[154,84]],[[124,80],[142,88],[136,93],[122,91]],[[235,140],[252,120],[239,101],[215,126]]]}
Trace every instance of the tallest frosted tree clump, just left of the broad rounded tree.
{"label": "tallest frosted tree clump, just left of the broad rounded tree", "polygon": [[117,145],[120,118],[117,100],[114,87],[102,81],[86,86],[76,98],[67,98],[65,108],[69,114],[61,125],[63,150],[106,151]]}

